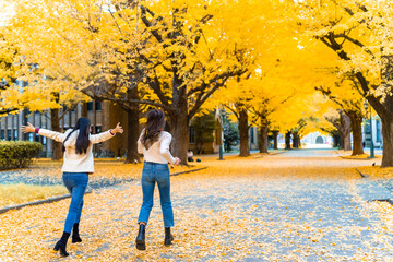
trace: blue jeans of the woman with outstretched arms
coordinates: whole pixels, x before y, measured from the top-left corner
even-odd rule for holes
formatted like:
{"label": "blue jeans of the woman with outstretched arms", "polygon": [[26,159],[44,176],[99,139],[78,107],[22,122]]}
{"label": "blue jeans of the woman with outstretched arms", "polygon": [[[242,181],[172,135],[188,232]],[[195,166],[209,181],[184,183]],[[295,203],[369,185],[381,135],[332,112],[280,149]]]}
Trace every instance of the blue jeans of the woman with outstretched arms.
{"label": "blue jeans of the woman with outstretched arms", "polygon": [[64,231],[71,233],[73,224],[81,221],[83,195],[88,182],[87,172],[63,172],[63,182],[71,194],[71,204],[66,218]]}

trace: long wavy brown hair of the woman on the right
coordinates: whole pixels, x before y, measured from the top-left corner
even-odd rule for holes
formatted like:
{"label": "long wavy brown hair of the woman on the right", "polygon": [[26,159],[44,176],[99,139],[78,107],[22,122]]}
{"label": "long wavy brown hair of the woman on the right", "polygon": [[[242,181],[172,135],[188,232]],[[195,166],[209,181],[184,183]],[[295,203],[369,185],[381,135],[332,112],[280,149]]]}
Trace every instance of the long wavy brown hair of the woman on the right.
{"label": "long wavy brown hair of the woman on the right", "polygon": [[151,110],[146,115],[147,123],[143,130],[141,142],[143,146],[148,150],[148,147],[158,141],[160,131],[165,128],[165,115],[162,110]]}

